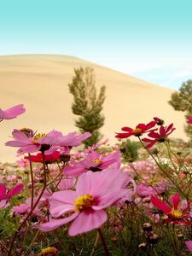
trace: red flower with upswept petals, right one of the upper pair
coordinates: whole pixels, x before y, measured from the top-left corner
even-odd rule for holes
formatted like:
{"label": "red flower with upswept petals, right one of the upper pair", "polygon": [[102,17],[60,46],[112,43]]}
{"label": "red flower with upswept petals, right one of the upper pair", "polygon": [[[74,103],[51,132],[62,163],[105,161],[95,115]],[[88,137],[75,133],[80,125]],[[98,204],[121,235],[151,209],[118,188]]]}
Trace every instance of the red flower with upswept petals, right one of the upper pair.
{"label": "red flower with upswept petals, right one of the upper pair", "polygon": [[168,127],[161,125],[159,133],[155,131],[149,132],[148,137],[152,137],[153,139],[142,139],[143,143],[148,143],[148,145],[145,146],[145,148],[151,148],[154,146],[155,143],[164,143],[166,141],[166,137],[168,137],[168,135],[170,135],[174,130],[175,128],[173,127],[173,124],[171,124]]}

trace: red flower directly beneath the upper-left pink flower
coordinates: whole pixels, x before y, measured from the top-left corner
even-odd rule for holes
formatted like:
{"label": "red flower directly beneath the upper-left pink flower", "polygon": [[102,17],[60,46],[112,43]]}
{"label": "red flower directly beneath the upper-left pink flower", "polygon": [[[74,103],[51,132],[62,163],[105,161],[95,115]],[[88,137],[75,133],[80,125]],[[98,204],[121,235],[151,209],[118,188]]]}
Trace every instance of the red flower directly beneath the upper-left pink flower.
{"label": "red flower directly beneath the upper-left pink flower", "polygon": [[32,162],[37,162],[37,163],[43,163],[45,160],[45,163],[50,163],[54,162],[55,160],[60,159],[60,153],[55,151],[53,154],[45,154],[44,155],[44,160],[43,160],[43,154],[38,153],[36,155],[32,154],[30,156],[26,156],[25,159],[31,160]]}

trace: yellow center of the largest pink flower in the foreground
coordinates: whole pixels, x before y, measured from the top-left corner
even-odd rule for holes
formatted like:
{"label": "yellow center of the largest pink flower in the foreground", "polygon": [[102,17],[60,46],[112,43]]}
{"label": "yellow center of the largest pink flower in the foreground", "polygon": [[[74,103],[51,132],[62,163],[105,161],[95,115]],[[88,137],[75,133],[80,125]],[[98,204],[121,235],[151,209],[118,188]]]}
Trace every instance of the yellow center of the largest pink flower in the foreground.
{"label": "yellow center of the largest pink flower in the foreground", "polygon": [[75,211],[84,211],[90,209],[94,204],[94,197],[92,195],[81,195],[75,201]]}

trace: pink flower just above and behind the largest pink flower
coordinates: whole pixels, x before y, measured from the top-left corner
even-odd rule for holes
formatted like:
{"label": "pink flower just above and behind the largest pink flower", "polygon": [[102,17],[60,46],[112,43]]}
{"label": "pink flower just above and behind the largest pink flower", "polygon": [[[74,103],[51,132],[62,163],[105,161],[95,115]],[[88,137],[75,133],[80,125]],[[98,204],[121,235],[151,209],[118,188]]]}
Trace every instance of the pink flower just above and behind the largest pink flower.
{"label": "pink flower just above and behind the largest pink flower", "polygon": [[103,169],[106,169],[108,166],[112,166],[115,163],[115,168],[119,168],[119,151],[108,154],[108,156],[98,154],[96,151],[91,151],[85,155],[84,160],[79,162],[71,161],[68,166],[65,166],[63,169],[63,175],[67,175],[69,177],[78,177],[83,172],[102,171]]}

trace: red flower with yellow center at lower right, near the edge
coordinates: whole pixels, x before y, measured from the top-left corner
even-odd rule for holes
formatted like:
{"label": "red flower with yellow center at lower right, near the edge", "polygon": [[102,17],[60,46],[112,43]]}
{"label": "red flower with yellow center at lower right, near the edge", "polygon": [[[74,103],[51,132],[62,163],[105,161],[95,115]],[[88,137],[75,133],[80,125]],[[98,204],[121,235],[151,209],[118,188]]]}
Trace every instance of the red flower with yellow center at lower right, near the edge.
{"label": "red flower with yellow center at lower right, near the edge", "polygon": [[167,215],[165,224],[172,222],[173,224],[192,224],[189,221],[189,214],[185,214],[189,210],[189,205],[185,209],[178,209],[178,203],[180,201],[180,195],[176,193],[169,198],[169,202],[172,206],[161,201],[158,197],[151,196],[151,202],[154,207],[157,207]]}

